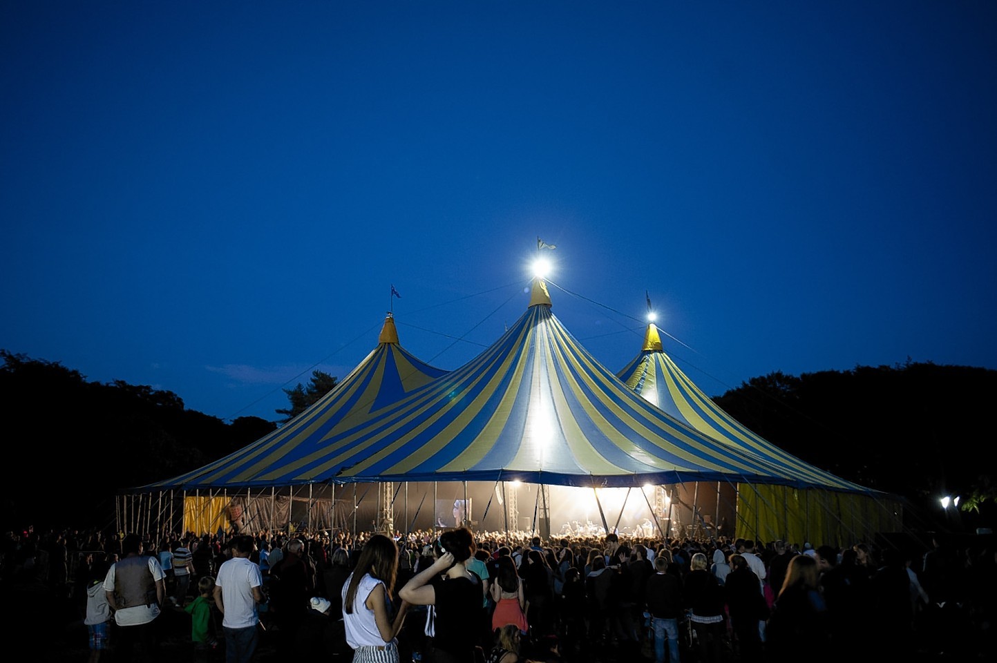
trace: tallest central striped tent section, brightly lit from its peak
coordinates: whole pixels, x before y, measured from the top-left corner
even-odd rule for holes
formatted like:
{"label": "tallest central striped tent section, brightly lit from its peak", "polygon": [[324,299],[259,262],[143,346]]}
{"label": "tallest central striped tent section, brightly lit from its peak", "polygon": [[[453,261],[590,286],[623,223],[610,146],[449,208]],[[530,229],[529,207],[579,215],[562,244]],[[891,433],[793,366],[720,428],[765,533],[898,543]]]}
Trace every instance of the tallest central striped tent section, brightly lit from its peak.
{"label": "tallest central striped tent section, brightly lit from its peak", "polygon": [[813,485],[804,472],[719,444],[651,406],[553,316],[539,280],[526,312],[481,355],[351,422],[266,479]]}

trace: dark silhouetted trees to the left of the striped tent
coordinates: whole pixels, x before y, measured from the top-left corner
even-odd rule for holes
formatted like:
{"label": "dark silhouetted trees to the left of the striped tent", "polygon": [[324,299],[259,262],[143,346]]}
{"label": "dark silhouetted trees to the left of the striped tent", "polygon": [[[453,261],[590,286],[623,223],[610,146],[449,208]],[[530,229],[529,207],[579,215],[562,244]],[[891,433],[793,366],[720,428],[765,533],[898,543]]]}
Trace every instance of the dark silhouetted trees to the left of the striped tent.
{"label": "dark silhouetted trees to the left of the striped tent", "polygon": [[194,470],[276,429],[258,417],[226,424],[169,391],[88,382],[58,362],[7,350],[0,361],[5,529],[104,526],[120,490]]}

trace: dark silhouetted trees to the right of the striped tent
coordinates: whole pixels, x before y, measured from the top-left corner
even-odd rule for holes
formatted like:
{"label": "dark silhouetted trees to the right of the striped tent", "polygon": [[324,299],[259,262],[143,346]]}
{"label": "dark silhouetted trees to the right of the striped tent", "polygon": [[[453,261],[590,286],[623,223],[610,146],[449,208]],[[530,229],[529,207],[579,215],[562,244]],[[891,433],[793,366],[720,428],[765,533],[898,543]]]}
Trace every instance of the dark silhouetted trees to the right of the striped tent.
{"label": "dark silhouetted trees to the right of the striped tent", "polygon": [[811,465],[934,507],[941,495],[993,501],[985,417],[997,371],[907,361],[800,377],[752,378],[714,401]]}

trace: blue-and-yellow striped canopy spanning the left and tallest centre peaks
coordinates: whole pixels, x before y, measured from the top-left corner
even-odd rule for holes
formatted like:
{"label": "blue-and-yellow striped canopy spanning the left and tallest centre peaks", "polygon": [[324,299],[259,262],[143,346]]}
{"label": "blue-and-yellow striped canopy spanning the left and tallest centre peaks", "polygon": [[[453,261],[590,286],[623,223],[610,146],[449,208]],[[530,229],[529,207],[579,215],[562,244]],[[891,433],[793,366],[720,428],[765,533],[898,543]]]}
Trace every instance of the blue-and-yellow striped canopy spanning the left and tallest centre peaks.
{"label": "blue-and-yellow striped canopy spanning the left and tallest centre peaks", "polygon": [[828,486],[830,476],[771,445],[718,441],[649,403],[568,333],[539,280],[522,317],[451,373],[412,357],[397,335],[386,340],[383,334],[381,341],[342,383],[280,430],[146,488],[499,480]]}

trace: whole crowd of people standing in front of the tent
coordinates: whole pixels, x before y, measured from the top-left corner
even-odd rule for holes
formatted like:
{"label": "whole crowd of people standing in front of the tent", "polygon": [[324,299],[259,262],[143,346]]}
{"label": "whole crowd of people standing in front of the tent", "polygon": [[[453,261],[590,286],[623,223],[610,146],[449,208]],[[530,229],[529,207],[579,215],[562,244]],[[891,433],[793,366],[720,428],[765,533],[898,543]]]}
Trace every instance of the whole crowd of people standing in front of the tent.
{"label": "whole crowd of people standing in front of the tent", "polygon": [[[0,582],[73,606],[90,663],[743,663],[993,651],[997,549],[466,527],[7,532]],[[8,584],[8,586],[10,586]]]}

